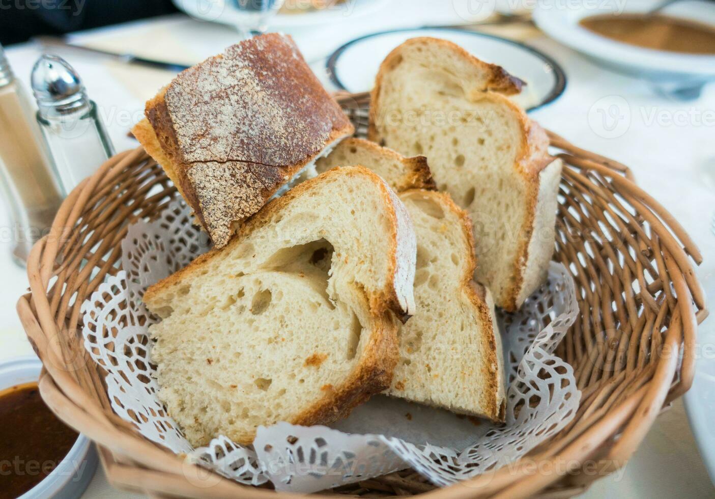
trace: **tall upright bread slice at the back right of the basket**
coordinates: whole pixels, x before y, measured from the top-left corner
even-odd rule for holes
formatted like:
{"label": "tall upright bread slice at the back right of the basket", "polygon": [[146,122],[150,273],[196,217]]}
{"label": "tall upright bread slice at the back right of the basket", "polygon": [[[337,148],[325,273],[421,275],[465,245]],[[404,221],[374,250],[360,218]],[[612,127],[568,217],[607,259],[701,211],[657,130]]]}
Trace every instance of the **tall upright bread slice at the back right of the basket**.
{"label": "tall upright bread slice at the back right of the basket", "polygon": [[546,279],[561,178],[546,133],[506,97],[520,89],[450,41],[410,39],[380,66],[368,129],[375,142],[427,157],[438,188],[472,219],[475,279],[509,311]]}

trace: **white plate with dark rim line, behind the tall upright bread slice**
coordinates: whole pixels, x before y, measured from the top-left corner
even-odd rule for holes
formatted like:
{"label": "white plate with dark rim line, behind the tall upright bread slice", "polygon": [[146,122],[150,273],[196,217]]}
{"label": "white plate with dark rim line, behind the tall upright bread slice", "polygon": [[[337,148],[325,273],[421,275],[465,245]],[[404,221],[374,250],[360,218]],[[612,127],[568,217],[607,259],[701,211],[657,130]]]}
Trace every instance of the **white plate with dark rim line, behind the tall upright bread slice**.
{"label": "white plate with dark rim line, behind the tall upright bread slice", "polygon": [[403,29],[385,31],[347,42],[327,59],[332,82],[347,92],[373,88],[380,63],[392,49],[416,36],[433,36],[453,41],[483,61],[503,66],[526,81],[513,100],[531,110],[556,99],[566,87],[566,76],[556,61],[516,41],[460,29]]}

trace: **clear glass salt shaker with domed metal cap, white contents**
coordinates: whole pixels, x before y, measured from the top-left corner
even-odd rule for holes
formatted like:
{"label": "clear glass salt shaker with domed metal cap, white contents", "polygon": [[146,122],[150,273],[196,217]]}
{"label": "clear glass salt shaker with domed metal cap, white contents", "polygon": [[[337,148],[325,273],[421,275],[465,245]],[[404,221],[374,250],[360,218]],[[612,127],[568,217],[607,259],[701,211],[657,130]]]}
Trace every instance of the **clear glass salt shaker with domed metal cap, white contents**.
{"label": "clear glass salt shaker with domed metal cap, white contents", "polygon": [[37,122],[54,158],[64,194],[92,175],[114,154],[97,104],[89,100],[77,71],[59,56],[45,54],[32,68]]}

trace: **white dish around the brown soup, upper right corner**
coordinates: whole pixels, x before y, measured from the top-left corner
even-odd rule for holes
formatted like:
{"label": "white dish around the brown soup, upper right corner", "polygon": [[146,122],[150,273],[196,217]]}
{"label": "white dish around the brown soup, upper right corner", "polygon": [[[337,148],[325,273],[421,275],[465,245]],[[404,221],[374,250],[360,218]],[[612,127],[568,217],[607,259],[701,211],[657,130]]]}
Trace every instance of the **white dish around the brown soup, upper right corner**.
{"label": "white dish around the brown soup, upper right corner", "polygon": [[[680,87],[692,87],[715,79],[715,56],[644,49],[599,36],[578,24],[588,16],[648,11],[653,6],[652,1],[600,0],[597,3],[569,2],[568,6],[568,9],[560,8],[554,0],[541,0],[533,20],[551,38],[616,71]],[[713,19],[715,6],[710,2],[684,1],[665,9],[664,13],[708,22]]]}

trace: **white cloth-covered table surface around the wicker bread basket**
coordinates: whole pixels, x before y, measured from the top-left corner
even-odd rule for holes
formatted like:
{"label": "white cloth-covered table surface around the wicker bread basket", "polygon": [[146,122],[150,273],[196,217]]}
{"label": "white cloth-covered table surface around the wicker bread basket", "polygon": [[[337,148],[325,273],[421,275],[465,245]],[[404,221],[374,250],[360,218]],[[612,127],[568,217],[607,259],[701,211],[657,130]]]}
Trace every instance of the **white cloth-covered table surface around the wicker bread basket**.
{"label": "white cloth-covered table surface around the wicker bread basket", "polygon": [[[373,16],[355,21],[346,19],[334,25],[320,26],[320,29],[307,27],[286,31],[292,34],[317,76],[328,88],[333,88],[325,72],[325,59],[338,46],[363,34],[385,29],[462,24],[464,20],[450,3],[392,0]],[[548,39],[531,25],[506,24],[484,29],[535,46],[563,66],[568,78],[566,92],[556,102],[533,112],[531,117],[574,144],[631,167],[641,187],[664,204],[699,244],[705,261],[697,272],[706,292],[714,296],[715,84],[705,87],[695,101],[673,102],[654,94],[644,81],[593,64]],[[186,64],[217,54],[238,39],[237,32],[229,26],[198,21],[183,14],[71,36],[71,41],[78,44]],[[31,65],[40,54],[38,47],[29,43],[17,44],[6,47],[6,52],[16,74],[26,84]],[[144,101],[166,84],[172,74],[127,66],[91,54],[74,51],[60,51],[59,54],[82,75],[115,148],[121,151],[137,147],[137,142],[128,137],[127,132],[142,117]],[[614,98],[624,99],[627,103],[628,123],[621,123],[622,133],[618,137],[603,133],[601,125],[594,122],[594,113]],[[684,121],[679,117],[685,117]],[[603,126],[606,125],[604,122]],[[10,227],[8,213],[1,205],[0,210],[0,227]],[[2,234],[0,275],[4,282],[0,287],[0,357],[14,357],[31,353],[14,309],[17,298],[26,290],[27,280],[24,270],[11,262],[11,233]],[[714,329],[713,319],[706,320],[700,327],[698,362],[708,362],[708,365],[715,362],[711,358],[715,352]],[[711,372],[715,373],[715,370]],[[702,393],[706,388],[715,392],[714,380],[715,375],[699,372],[695,381],[699,390],[691,390],[688,397],[699,396],[693,394]],[[696,418],[706,421],[709,416],[709,413],[700,414]],[[715,453],[715,449],[710,451]],[[681,400],[659,417],[622,473],[598,480],[583,496],[670,498],[676,495],[715,495]],[[84,497],[133,495],[110,488],[99,471]]]}

